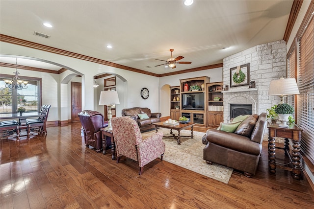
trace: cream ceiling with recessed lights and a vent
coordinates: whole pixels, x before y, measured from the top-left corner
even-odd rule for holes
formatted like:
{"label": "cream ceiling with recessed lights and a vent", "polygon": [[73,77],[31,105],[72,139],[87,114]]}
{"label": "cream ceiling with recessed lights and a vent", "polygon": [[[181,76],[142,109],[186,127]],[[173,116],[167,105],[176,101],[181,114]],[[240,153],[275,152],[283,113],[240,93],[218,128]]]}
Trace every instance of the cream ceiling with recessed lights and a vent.
{"label": "cream ceiling with recessed lights and a vent", "polygon": [[[1,0],[0,33],[162,74],[222,63],[244,49],[283,39],[292,3],[194,0],[185,6],[183,0]],[[34,36],[34,31],[51,37]],[[163,64],[156,59],[170,58],[170,48],[173,57],[182,55],[180,61],[192,64],[154,67]],[[15,64],[11,60],[0,61]]]}

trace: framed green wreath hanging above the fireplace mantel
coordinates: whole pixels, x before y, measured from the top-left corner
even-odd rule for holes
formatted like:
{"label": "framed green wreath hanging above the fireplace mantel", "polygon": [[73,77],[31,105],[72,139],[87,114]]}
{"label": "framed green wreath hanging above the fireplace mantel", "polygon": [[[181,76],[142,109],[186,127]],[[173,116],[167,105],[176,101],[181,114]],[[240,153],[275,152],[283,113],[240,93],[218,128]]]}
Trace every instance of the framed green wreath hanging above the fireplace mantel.
{"label": "framed green wreath hanging above the fireplace mantel", "polygon": [[230,69],[230,87],[250,84],[250,63]]}

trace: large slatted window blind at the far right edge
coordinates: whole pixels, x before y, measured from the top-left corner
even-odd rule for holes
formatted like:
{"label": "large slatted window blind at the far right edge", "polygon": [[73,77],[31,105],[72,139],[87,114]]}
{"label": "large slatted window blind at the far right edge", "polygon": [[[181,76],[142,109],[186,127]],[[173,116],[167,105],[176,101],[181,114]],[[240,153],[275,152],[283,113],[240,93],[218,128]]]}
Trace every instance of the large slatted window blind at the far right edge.
{"label": "large slatted window blind at the far right edge", "polygon": [[299,39],[298,84],[298,125],[301,133],[301,150],[314,164],[314,19]]}

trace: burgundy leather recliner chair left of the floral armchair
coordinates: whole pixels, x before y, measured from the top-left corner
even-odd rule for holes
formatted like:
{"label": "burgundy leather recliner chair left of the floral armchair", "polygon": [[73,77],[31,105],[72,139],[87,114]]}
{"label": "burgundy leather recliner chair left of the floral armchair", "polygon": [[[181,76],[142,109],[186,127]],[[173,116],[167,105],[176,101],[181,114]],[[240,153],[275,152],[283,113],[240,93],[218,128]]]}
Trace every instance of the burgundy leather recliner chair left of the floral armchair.
{"label": "burgundy leather recliner chair left of the floral armchair", "polygon": [[[103,138],[101,128],[108,126],[108,122],[104,122],[104,115],[92,110],[84,110],[78,113],[79,120],[84,129],[84,139],[86,147],[92,146],[97,153],[103,150]],[[108,142],[105,143],[106,146]]]}

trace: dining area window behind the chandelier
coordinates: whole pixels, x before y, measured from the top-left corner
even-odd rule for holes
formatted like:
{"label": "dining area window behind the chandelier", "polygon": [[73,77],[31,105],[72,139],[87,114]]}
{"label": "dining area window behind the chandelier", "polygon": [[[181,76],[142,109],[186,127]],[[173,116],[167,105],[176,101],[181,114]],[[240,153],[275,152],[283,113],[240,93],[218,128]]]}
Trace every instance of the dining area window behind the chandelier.
{"label": "dining area window behind the chandelier", "polygon": [[3,79],[12,79],[13,76],[1,74],[0,79],[0,113],[16,113],[18,107],[26,111],[39,111],[41,107],[41,78],[19,76],[28,81],[27,88],[11,90],[5,87]]}

